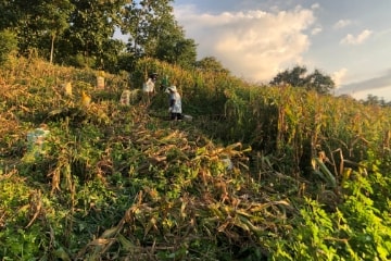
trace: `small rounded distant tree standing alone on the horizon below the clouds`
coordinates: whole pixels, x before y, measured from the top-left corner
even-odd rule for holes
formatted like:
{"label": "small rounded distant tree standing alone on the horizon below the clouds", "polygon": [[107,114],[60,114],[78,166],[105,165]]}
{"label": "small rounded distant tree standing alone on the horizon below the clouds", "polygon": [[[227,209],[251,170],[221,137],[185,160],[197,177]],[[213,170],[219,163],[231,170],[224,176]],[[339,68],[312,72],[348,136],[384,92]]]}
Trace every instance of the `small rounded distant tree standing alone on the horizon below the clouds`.
{"label": "small rounded distant tree standing alone on the horizon below the clouds", "polygon": [[307,90],[315,90],[319,94],[329,94],[336,87],[330,76],[324,75],[319,70],[307,74],[305,66],[295,66],[292,70],[286,70],[278,73],[270,85],[289,84],[293,87],[303,87]]}

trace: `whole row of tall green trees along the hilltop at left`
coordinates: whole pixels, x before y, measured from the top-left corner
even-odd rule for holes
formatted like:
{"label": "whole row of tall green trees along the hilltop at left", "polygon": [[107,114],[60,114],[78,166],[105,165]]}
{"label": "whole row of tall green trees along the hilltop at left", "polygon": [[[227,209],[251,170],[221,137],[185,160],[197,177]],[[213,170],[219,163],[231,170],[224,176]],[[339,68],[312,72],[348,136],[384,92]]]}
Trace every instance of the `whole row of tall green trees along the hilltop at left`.
{"label": "whole row of tall green trees along the hilltop at left", "polygon": [[[116,73],[142,57],[189,67],[197,45],[173,15],[173,0],[0,1],[3,50]],[[114,38],[121,32],[128,41]],[[1,51],[1,47],[0,47]]]}

